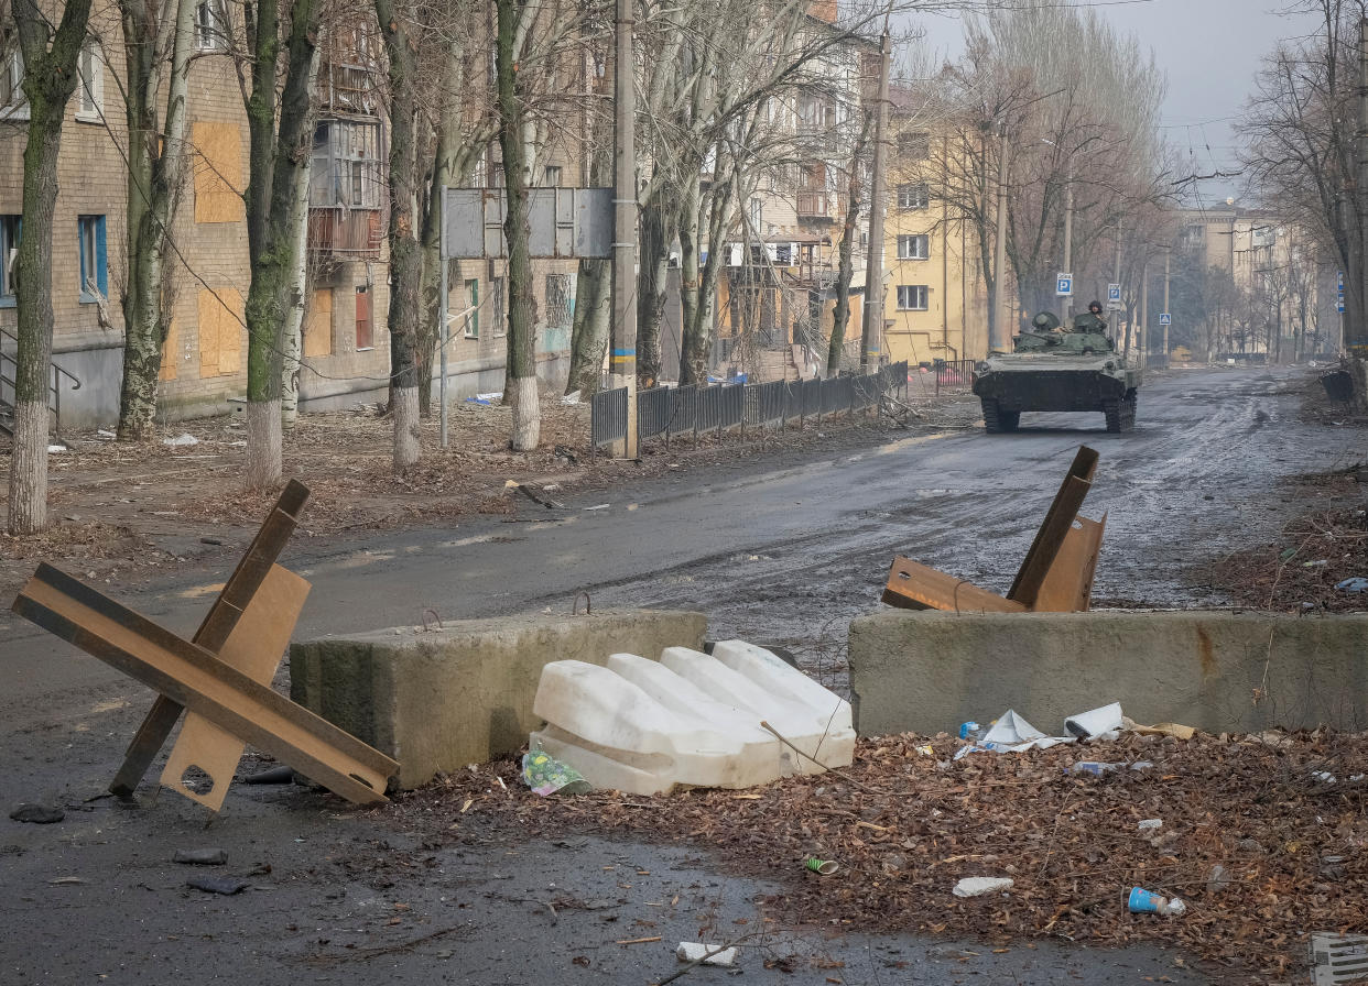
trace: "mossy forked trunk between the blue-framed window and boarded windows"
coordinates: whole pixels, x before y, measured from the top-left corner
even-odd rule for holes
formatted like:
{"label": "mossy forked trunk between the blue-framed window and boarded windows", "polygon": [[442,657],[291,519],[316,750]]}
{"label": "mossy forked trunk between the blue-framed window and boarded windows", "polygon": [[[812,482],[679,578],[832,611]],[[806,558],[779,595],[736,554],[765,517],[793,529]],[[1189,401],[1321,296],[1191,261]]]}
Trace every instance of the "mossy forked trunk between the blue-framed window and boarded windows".
{"label": "mossy forked trunk between the blue-framed window and boarded windows", "polygon": [[[129,181],[124,222],[127,282],[123,309],[123,382],[119,440],[152,438],[161,351],[171,325],[174,284],[167,252],[185,176],[186,89],[194,48],[192,0],[178,0],[175,19],[159,22],[156,0],[123,0],[124,105],[129,124]],[[170,57],[166,124],[157,119],[161,62]]]}

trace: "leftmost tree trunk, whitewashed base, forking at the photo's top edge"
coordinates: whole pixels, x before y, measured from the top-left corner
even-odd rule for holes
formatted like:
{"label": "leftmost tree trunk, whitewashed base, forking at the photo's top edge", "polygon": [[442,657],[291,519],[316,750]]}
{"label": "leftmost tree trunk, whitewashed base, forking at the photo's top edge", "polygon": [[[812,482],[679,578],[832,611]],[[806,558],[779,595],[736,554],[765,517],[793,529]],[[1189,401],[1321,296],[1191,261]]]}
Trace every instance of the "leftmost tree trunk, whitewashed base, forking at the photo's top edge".
{"label": "leftmost tree trunk, whitewashed base, forking at the photo's top edge", "polygon": [[[14,0],[23,52],[29,139],[23,149],[23,237],[18,250],[18,351],[10,533],[48,527],[48,379],[52,373],[52,211],[57,201],[62,119],[77,86],[90,0],[68,0],[53,34],[34,0]],[[51,42],[51,49],[49,49]]]}

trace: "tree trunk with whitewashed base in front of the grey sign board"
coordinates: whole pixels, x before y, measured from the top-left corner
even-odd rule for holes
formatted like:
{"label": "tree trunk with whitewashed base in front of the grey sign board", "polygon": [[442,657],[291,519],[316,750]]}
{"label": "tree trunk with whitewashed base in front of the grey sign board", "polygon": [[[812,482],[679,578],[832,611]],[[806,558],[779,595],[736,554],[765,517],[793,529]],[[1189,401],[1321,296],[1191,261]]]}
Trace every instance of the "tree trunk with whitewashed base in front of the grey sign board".
{"label": "tree trunk with whitewashed base in front of the grey sign board", "polygon": [[505,402],[513,408],[513,450],[540,443],[542,420],[536,391],[536,335],[534,331],[532,256],[528,243],[525,93],[517,78],[514,34],[527,0],[497,0],[499,146],[508,213],[503,235],[509,248],[508,386]]}

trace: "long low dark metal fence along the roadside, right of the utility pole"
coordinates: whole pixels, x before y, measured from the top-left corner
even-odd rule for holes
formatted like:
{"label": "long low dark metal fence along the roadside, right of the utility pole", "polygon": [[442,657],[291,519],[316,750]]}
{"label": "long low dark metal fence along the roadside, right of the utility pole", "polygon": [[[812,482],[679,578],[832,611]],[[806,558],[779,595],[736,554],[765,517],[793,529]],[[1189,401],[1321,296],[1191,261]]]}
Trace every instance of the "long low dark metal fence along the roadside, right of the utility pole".
{"label": "long low dark metal fence along the roadside, right of the utility pole", "polygon": [[[874,373],[826,380],[724,383],[713,387],[651,387],[636,394],[636,434],[644,440],[659,435],[669,442],[692,434],[731,428],[803,427],[808,420],[878,406],[886,394],[907,392],[907,361]],[[627,387],[602,390],[591,402],[590,440],[602,447],[627,438]]]}

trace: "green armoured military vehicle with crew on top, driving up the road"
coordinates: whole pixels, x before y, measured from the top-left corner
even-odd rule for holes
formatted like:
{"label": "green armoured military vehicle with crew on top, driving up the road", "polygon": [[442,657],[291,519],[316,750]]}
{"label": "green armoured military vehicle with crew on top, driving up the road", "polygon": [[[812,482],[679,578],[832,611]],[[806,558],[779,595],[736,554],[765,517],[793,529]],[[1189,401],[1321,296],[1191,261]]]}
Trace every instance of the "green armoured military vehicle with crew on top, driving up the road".
{"label": "green armoured military vehicle with crew on top, driving up the road", "polygon": [[979,362],[974,394],[984,403],[986,431],[1016,431],[1023,410],[1101,412],[1107,431],[1130,431],[1141,371],[1127,365],[1104,327],[1085,312],[1064,328],[1053,312],[1041,312],[1011,353]]}

